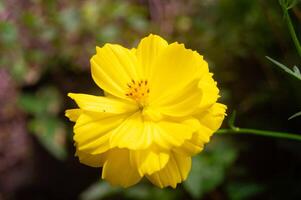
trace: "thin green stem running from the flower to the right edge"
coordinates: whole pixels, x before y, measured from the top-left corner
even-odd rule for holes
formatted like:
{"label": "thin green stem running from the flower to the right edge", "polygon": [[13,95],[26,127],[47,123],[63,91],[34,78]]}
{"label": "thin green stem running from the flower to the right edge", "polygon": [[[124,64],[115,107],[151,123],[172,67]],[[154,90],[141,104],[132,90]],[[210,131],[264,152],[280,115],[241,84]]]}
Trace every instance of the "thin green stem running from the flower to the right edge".
{"label": "thin green stem running from the flower to the right edge", "polygon": [[217,133],[218,134],[251,134],[251,135],[261,135],[267,137],[286,138],[286,139],[301,141],[301,135],[285,133],[285,132],[249,129],[249,128],[234,127],[232,129],[220,129],[217,131]]}

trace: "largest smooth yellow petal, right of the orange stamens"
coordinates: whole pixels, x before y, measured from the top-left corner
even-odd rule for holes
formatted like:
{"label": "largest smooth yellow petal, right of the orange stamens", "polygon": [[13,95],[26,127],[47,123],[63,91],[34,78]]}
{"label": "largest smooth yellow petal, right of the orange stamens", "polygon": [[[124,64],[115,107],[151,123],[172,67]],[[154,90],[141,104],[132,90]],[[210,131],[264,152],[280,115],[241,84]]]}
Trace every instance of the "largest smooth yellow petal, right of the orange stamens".
{"label": "largest smooth yellow petal, right of the orange stamens", "polygon": [[200,78],[208,64],[197,52],[173,43],[163,50],[150,76],[150,107],[160,113],[182,117],[195,112],[202,100]]}

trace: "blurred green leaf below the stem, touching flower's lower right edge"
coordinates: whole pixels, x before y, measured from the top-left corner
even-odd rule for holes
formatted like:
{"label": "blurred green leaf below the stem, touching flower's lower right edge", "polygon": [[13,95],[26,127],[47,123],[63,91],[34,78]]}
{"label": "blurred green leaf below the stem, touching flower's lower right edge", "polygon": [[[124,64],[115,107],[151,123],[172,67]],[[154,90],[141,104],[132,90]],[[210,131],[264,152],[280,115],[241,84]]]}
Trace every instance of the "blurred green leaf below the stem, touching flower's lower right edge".
{"label": "blurred green leaf below the stem, touching flower's lower right edge", "polygon": [[237,150],[227,140],[215,138],[206,151],[193,158],[193,164],[184,188],[194,198],[201,198],[205,193],[219,186],[226,174],[226,169],[235,161]]}

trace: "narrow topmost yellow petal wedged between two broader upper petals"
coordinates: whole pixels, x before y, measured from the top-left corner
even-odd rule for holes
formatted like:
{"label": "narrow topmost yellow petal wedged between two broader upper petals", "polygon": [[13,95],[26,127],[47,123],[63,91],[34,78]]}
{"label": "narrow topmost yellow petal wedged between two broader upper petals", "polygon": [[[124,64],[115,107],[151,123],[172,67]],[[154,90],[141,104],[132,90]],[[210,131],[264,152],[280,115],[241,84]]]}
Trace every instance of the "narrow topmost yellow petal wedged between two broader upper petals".
{"label": "narrow topmost yellow petal wedged between two broader upper petals", "polygon": [[153,34],[140,41],[136,55],[140,65],[143,67],[144,78],[148,78],[152,73],[153,63],[167,46],[168,43],[163,38]]}

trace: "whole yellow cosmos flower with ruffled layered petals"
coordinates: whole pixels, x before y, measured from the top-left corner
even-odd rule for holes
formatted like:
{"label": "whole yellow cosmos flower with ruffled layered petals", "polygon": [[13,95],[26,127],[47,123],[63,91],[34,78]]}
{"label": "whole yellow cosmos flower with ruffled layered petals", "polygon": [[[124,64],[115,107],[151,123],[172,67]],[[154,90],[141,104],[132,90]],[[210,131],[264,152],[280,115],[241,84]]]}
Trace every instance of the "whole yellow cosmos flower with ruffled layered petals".
{"label": "whole yellow cosmos flower with ruffled layered petals", "polygon": [[69,93],[78,109],[74,141],[81,163],[128,187],[146,177],[163,188],[184,181],[191,157],[220,127],[226,106],[208,64],[196,51],[157,35],[137,48],[96,48],[92,77],[105,96]]}

